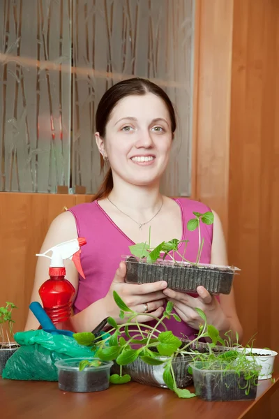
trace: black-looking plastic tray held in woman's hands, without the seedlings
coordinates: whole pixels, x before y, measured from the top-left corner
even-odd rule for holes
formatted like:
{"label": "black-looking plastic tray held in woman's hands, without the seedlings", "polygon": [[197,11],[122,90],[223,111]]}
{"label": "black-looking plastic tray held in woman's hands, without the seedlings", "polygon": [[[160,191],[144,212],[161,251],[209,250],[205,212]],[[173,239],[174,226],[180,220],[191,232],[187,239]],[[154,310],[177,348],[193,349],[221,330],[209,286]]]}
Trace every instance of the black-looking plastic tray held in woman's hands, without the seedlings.
{"label": "black-looking plastic tray held in woman's hands, without the seedlings", "polygon": [[158,260],[147,263],[135,256],[122,256],[126,262],[126,282],[129,284],[147,284],[167,281],[168,287],[175,291],[196,293],[198,286],[204,286],[211,294],[229,294],[232,289],[234,274],[238,267],[208,265],[198,266],[186,262],[174,263],[172,260]]}

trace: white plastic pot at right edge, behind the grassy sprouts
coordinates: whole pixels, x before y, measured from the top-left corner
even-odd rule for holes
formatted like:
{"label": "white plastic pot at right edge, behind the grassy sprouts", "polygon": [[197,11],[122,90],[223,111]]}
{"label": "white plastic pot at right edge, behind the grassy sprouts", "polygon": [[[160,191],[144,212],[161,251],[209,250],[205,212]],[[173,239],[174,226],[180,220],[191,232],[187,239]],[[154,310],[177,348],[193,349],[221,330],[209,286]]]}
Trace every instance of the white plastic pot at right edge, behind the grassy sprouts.
{"label": "white plastic pot at right edge, behind the grassy sprouts", "polygon": [[261,367],[259,372],[259,380],[268,380],[272,377],[273,365],[276,355],[275,351],[270,351],[269,349],[259,349],[259,348],[238,348],[238,351],[244,351],[245,353],[253,353],[254,355],[247,355],[247,359],[252,361],[255,360],[257,365]]}

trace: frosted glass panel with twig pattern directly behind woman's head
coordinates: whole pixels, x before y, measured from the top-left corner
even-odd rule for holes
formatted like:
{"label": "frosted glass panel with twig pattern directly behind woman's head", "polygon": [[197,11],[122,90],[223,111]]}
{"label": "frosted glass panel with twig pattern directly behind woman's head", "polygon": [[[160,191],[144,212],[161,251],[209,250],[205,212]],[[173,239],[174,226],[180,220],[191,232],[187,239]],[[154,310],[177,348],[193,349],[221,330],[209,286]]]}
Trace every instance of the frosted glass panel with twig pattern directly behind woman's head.
{"label": "frosted glass panel with twig pattern directly behind woman's head", "polygon": [[112,84],[139,76],[163,87],[179,119],[163,192],[190,195],[194,0],[73,1],[73,184],[100,184],[96,107]]}

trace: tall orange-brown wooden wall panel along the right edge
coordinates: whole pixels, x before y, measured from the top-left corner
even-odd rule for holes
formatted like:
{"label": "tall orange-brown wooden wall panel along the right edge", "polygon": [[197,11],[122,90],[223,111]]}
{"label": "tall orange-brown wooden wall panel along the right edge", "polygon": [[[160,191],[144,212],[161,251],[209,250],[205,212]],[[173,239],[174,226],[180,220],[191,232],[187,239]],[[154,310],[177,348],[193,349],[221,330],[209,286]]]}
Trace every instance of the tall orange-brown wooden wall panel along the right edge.
{"label": "tall orange-brown wooden wall panel along the right edge", "polygon": [[235,0],[229,260],[245,338],[279,351],[279,1]]}

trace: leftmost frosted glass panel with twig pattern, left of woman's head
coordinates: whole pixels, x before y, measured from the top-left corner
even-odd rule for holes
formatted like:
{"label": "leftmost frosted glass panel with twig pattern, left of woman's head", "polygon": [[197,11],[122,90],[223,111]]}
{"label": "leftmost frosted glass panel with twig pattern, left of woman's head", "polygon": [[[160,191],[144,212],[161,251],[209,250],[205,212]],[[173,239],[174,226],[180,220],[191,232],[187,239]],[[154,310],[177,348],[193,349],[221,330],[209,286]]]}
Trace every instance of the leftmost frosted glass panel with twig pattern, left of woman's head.
{"label": "leftmost frosted glass panel with twig pattern, left of woman's head", "polygon": [[68,0],[0,1],[2,191],[69,185],[71,7]]}

